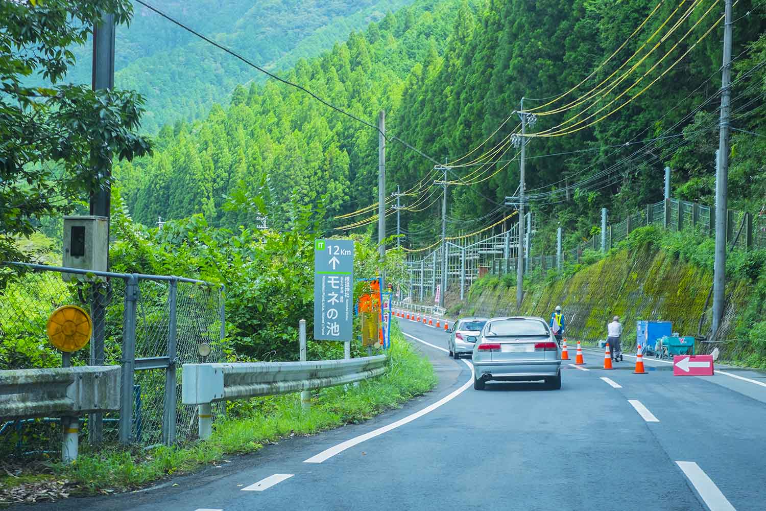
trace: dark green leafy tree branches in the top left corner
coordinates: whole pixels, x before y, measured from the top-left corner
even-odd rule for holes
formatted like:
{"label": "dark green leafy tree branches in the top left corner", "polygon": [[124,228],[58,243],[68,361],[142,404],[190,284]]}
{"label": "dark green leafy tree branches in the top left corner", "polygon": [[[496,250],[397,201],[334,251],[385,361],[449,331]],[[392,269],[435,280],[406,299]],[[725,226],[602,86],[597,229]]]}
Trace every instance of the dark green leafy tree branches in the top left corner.
{"label": "dark green leafy tree branches in the top left corner", "polygon": [[136,133],[137,93],[25,85],[32,74],[61,80],[74,64],[67,48],[86,40],[100,12],[126,23],[132,8],[125,0],[0,2],[0,260],[21,257],[14,236],[103,185],[93,169],[150,152]]}

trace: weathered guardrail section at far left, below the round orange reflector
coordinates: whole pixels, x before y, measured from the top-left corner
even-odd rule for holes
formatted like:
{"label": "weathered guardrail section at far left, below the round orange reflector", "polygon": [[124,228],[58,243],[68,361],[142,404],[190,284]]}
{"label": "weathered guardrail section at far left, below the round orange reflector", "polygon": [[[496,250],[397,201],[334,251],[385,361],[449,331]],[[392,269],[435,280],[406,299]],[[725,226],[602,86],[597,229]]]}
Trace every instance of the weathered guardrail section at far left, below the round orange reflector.
{"label": "weathered guardrail section at far left, below the round orange reflector", "polygon": [[61,458],[77,457],[77,416],[119,410],[119,365],[0,371],[0,422],[61,416]]}

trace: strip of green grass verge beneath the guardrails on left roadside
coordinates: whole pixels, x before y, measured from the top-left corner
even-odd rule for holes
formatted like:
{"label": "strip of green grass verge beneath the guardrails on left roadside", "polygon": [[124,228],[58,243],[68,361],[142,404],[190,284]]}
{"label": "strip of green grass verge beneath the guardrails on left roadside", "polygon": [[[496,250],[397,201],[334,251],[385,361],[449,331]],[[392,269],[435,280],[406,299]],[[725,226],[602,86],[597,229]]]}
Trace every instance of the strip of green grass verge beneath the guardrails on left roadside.
{"label": "strip of green grass verge beneath the guardrails on left roadside", "polygon": [[56,498],[144,486],[170,474],[188,473],[214,464],[228,454],[254,453],[280,438],[315,434],[365,421],[382,411],[397,408],[436,385],[430,362],[404,340],[395,326],[388,355],[384,375],[360,382],[358,386],[314,391],[309,411],[301,408],[298,394],[237,401],[231,406],[229,417],[214,424],[213,435],[206,442],[149,450],[113,446],[97,452],[89,452],[83,446],[76,463],[68,467],[47,464],[51,473],[2,474],[0,504],[36,494],[43,494],[44,499],[44,494]]}

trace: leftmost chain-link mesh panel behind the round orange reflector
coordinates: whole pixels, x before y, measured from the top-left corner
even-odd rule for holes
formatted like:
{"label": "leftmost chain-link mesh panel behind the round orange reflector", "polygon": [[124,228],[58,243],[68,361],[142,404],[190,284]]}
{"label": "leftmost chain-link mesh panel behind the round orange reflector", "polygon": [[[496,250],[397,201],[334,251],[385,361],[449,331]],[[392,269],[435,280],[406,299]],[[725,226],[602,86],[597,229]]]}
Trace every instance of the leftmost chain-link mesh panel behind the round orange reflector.
{"label": "leftmost chain-link mesh panel behind the round orange reflector", "polygon": [[[93,320],[90,346],[72,353],[72,365],[89,365],[97,343],[103,346],[99,363],[119,364],[123,280],[87,282],[71,274],[71,280],[64,280],[61,272],[8,265],[0,267],[0,274],[0,370],[61,367],[61,352],[47,341],[47,320],[64,305],[80,307]],[[116,441],[118,422],[116,412],[103,416],[103,440]],[[80,418],[80,431],[89,435],[89,418]],[[57,455],[60,448],[60,418],[0,421],[0,454]]]}

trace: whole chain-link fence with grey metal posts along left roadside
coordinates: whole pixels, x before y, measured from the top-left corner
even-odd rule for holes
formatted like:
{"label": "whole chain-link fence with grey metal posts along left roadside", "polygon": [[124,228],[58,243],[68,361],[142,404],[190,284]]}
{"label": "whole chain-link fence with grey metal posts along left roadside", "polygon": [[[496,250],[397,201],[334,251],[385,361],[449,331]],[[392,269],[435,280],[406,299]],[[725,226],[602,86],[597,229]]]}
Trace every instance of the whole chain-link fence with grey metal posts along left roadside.
{"label": "whole chain-link fence with grey metal posts along left roadside", "polygon": [[[223,287],[182,277],[83,272],[31,264],[0,266],[0,369],[60,367],[47,343],[47,318],[59,306],[80,306],[93,319],[89,348],[73,365],[122,365],[120,412],[80,418],[93,443],[172,444],[196,434],[196,408],[181,405],[181,372],[201,362],[223,362]],[[218,410],[220,411],[220,410]],[[121,421],[125,416],[128,418]],[[57,451],[58,418],[2,421],[0,453]]]}

